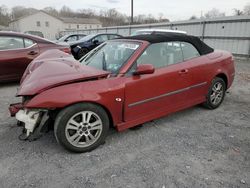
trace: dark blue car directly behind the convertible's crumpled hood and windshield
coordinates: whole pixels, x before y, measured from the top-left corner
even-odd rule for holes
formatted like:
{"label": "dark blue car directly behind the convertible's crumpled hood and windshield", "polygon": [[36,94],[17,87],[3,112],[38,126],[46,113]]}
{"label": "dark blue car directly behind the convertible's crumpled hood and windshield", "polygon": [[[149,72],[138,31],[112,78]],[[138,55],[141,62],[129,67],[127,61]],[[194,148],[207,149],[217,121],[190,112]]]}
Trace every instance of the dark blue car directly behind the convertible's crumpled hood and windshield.
{"label": "dark blue car directly behind the convertible's crumpled hood and windshield", "polygon": [[102,33],[102,34],[91,34],[88,35],[79,41],[69,43],[71,47],[71,52],[75,59],[80,59],[84,55],[86,55],[90,50],[99,46],[101,43],[115,39],[121,38],[121,35],[112,34],[112,33]]}

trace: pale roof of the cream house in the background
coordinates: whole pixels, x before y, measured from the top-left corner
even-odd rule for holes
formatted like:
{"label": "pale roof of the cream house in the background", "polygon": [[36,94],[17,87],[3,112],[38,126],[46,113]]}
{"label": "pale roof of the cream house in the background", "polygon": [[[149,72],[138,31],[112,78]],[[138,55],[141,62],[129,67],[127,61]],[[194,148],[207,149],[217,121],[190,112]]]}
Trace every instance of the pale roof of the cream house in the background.
{"label": "pale roof of the cream house in the background", "polygon": [[[37,10],[37,12],[34,12],[32,14],[28,14],[28,15],[25,15],[25,16],[22,16],[20,18],[17,18],[15,20],[12,20],[11,22],[15,22],[15,21],[18,21],[18,20],[21,20],[23,18],[26,18],[28,16],[31,16],[33,14],[37,14],[38,12],[42,12],[44,14],[47,14],[51,17],[54,17],[58,20],[61,20],[62,22],[64,23],[75,23],[75,24],[102,24],[98,19],[93,19],[93,18],[63,18],[63,17],[57,17],[57,16],[54,16],[54,15],[51,15],[49,13],[47,13],[46,11],[44,10]],[[10,22],[10,23],[11,23]]]}

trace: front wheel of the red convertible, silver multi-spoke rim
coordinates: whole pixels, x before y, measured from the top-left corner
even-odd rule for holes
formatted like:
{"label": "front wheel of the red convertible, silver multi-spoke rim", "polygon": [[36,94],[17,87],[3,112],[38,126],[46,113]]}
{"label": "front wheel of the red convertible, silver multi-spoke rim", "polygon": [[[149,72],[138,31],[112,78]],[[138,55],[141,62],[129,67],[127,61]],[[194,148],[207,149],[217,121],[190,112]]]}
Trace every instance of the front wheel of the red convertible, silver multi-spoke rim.
{"label": "front wheel of the red convertible, silver multi-spoke rim", "polygon": [[104,143],[109,123],[106,111],[100,106],[75,104],[57,115],[54,134],[65,149],[77,153],[89,152]]}

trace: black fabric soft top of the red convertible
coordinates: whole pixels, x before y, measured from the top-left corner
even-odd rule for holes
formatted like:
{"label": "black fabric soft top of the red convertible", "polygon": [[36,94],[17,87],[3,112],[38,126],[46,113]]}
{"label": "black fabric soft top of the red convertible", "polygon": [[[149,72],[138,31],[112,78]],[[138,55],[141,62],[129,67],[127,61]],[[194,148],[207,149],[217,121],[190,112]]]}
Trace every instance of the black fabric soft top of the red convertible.
{"label": "black fabric soft top of the red convertible", "polygon": [[135,35],[123,37],[122,39],[144,40],[149,43],[171,42],[171,41],[183,41],[193,44],[201,55],[209,54],[214,51],[213,48],[205,44],[198,37],[180,34],[180,33],[161,33],[150,35]]}

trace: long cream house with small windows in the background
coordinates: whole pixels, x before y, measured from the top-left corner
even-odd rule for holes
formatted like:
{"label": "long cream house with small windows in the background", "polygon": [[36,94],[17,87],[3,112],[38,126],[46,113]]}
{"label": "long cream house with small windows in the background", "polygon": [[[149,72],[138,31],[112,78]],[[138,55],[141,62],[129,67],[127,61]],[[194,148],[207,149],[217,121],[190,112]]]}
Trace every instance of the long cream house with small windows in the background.
{"label": "long cream house with small windows in the background", "polygon": [[102,23],[97,19],[89,18],[59,18],[52,16],[45,11],[37,11],[9,23],[9,28],[13,31],[27,32],[40,31],[47,39],[54,40],[60,31],[84,30],[102,27]]}

